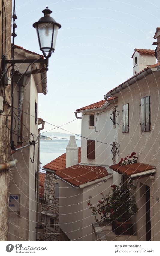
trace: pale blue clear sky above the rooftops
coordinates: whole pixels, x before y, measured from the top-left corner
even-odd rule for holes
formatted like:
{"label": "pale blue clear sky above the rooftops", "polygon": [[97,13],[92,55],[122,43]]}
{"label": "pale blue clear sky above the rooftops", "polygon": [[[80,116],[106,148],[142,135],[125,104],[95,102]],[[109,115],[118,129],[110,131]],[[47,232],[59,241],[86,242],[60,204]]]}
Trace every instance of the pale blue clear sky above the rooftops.
{"label": "pale blue clear sky above the rooftops", "polygon": [[[155,49],[152,43],[160,27],[160,3],[16,0],[15,44],[41,54],[32,24],[43,16],[46,5],[62,28],[49,59],[48,93],[39,94],[38,115],[60,126],[75,119],[76,109],[103,100],[109,90],[133,75],[134,48]],[[44,131],[52,128],[46,124]],[[80,134],[81,119],[62,128],[65,133]]]}

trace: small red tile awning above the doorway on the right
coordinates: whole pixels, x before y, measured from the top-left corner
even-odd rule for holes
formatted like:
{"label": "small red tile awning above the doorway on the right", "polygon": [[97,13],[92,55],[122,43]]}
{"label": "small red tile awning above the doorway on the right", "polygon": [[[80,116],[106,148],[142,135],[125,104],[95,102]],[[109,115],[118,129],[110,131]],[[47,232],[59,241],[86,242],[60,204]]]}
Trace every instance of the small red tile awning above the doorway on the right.
{"label": "small red tile awning above the doorway on the right", "polygon": [[132,163],[132,164],[126,164],[122,166],[119,166],[119,164],[113,164],[110,166],[110,169],[120,174],[125,173],[127,176],[130,176],[132,174],[137,174],[137,173],[155,169],[155,167],[145,163]]}

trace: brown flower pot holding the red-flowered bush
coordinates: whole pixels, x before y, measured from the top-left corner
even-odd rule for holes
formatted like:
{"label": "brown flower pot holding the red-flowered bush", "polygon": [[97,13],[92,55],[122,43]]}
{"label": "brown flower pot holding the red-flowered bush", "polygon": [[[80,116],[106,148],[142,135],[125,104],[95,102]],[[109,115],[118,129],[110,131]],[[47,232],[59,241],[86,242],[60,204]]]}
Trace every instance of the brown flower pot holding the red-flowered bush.
{"label": "brown flower pot holding the red-flowered bush", "polygon": [[116,235],[133,235],[133,223],[131,221],[120,222],[118,220],[114,220],[112,230]]}

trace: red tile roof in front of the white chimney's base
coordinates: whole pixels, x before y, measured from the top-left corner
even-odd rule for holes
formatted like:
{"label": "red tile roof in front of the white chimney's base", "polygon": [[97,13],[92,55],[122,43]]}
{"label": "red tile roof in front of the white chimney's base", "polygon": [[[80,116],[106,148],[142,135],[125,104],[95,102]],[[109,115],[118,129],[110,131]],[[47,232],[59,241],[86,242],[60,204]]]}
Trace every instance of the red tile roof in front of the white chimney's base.
{"label": "red tile roof in front of the white chimney's base", "polygon": [[74,186],[109,175],[105,167],[78,164],[59,170],[55,174]]}

